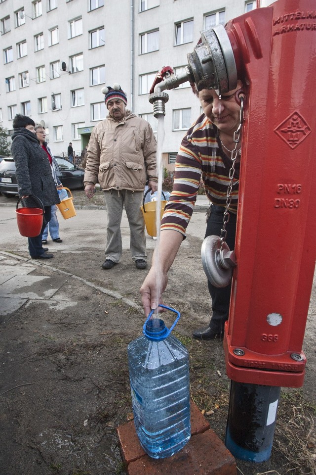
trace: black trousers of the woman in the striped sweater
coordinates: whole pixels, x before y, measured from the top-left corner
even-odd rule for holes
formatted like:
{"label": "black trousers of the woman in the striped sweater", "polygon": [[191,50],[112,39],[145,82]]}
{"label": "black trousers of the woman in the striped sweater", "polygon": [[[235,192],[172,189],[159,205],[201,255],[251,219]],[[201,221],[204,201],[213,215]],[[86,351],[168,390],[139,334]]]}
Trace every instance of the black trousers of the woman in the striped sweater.
{"label": "black trousers of the woman in the striped sweater", "polygon": [[[225,208],[223,206],[212,205],[211,214],[207,220],[205,238],[207,236],[220,236],[221,229],[223,227]],[[226,224],[226,243],[230,250],[235,249],[235,237],[236,237],[236,222],[237,215],[230,213],[229,222]],[[212,318],[210,320],[210,327],[215,332],[223,332],[224,324],[228,320],[229,304],[231,298],[232,284],[227,287],[214,287],[209,281],[208,291],[212,298]]]}

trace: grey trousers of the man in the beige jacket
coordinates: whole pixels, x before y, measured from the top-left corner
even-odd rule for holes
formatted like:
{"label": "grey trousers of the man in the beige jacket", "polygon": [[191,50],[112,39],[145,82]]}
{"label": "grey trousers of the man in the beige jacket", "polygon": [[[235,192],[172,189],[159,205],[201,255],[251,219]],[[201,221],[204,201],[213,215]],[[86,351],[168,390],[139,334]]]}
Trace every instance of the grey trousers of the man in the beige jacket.
{"label": "grey trousers of the man in the beige jacket", "polygon": [[133,261],[147,261],[144,218],[141,212],[144,193],[142,191],[104,191],[104,202],[108,213],[106,259],[118,262],[122,255],[120,223],[125,207],[130,229],[130,252]]}

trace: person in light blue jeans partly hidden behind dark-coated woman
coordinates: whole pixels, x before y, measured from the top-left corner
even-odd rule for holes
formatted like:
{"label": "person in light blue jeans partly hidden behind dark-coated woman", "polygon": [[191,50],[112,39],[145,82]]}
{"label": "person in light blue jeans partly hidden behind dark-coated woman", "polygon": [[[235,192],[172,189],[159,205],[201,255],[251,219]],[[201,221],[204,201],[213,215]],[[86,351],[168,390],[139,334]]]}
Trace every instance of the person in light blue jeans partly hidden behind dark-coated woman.
{"label": "person in light blue jeans partly hidden behind dark-coated woman", "polygon": [[[37,124],[35,126],[35,131],[37,138],[40,141],[40,146],[42,149],[46,152],[49,164],[51,166],[51,172],[53,175],[53,179],[56,185],[57,190],[59,188],[62,188],[62,183],[59,180],[59,178],[56,175],[56,167],[55,167],[55,161],[54,161],[54,155],[51,153],[49,146],[47,145],[47,142],[45,142],[45,129],[40,125]],[[45,227],[43,231],[43,236],[41,239],[42,244],[47,244],[47,237],[48,237],[48,230],[50,237],[54,242],[63,242],[63,240],[59,237],[59,223],[58,223],[58,218],[57,218],[57,206],[54,204],[51,207],[51,219],[49,223],[47,223],[47,226]]]}

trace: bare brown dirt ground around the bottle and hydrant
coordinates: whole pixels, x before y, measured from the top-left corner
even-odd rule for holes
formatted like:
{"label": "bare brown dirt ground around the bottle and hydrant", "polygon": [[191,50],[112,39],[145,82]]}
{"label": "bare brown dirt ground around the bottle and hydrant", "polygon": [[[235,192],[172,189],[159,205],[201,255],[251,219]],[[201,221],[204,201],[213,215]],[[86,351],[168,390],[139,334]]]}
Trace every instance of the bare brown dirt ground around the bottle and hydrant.
{"label": "bare brown dirt ground around the bottle and hydrant", "polygon": [[[82,201],[82,192],[74,194],[77,203]],[[188,234],[190,239],[190,227]],[[176,336],[190,352],[192,398],[224,440],[230,380],[222,341],[191,338],[210,315],[201,242],[192,237],[189,249],[181,246],[164,302],[181,312]],[[144,323],[141,308],[128,300],[140,304],[146,271],[131,266],[124,250],[121,263],[105,274],[100,255],[90,252],[86,230],[79,232],[76,246],[76,253],[56,253],[53,267],[45,270],[52,278],[63,278],[54,274],[59,269],[82,279],[65,277],[57,297],[63,301],[71,294],[76,304],[66,309],[43,305],[38,315],[30,302],[0,317],[0,385],[12,388],[0,391],[0,475],[125,474],[116,427],[132,418],[126,347]],[[40,272],[39,267],[35,275]],[[104,287],[124,299],[104,293]],[[237,461],[237,474],[316,474],[315,313],[311,305],[305,383],[300,389],[281,390],[271,459],[261,464]],[[18,385],[13,381],[21,386],[13,389]]]}

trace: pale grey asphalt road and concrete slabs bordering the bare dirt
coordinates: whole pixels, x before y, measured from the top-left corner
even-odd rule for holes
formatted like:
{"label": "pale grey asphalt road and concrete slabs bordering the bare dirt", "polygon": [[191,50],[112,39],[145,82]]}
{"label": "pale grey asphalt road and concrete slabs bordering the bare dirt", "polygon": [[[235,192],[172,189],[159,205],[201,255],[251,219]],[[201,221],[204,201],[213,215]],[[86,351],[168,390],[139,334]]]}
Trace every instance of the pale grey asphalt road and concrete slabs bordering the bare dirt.
{"label": "pale grey asphalt road and concrete slabs bordering the bare dirt", "polygon": [[[106,287],[95,285],[89,279],[82,279],[73,272],[65,272],[54,265],[54,259],[36,260],[31,259],[27,253],[27,238],[18,232],[15,213],[15,201],[1,200],[0,202],[0,317],[5,317],[23,305],[34,305],[39,312],[42,311],[42,303],[55,304],[58,294],[63,291],[63,302],[69,305],[76,296],[69,291],[71,287],[64,285],[69,280],[80,280],[84,284],[98,291],[104,292],[113,298],[126,301],[129,306],[141,311],[139,302],[132,302],[122,297],[118,292]],[[205,229],[205,213],[209,202],[205,196],[197,197],[196,211],[190,223],[190,234],[201,237]],[[90,251],[100,247],[100,242],[105,243],[104,226],[106,224],[106,211],[103,206],[76,206],[77,216],[64,220],[59,216],[60,236],[62,243],[48,241],[49,252],[69,253],[77,252],[82,242],[79,243],[79,230],[86,229],[87,235],[93,230],[93,239],[89,240]],[[123,249],[129,249],[129,227],[125,212],[122,223]],[[201,231],[203,230],[203,231]],[[76,242],[77,241],[77,242]],[[147,248],[154,249],[156,241],[147,236]],[[186,242],[189,245],[189,241]],[[40,272],[39,272],[40,270]],[[52,274],[52,271],[53,274]],[[40,275],[39,275],[40,274]],[[56,275],[59,278],[56,278]],[[66,292],[66,293],[65,293]],[[59,301],[58,305],[62,305]],[[36,311],[36,310],[35,310]]]}

